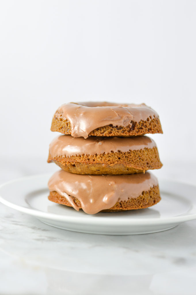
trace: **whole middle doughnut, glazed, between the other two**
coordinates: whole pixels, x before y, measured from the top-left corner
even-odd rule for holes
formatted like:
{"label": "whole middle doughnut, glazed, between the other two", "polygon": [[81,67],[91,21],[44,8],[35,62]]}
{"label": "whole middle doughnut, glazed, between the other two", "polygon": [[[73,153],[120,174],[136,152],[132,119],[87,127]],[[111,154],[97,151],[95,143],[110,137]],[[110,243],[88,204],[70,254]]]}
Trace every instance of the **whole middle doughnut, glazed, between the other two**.
{"label": "whole middle doughnut, glazed, between the other two", "polygon": [[139,137],[72,137],[61,135],[50,144],[48,163],[76,174],[132,174],[159,169],[154,140]]}

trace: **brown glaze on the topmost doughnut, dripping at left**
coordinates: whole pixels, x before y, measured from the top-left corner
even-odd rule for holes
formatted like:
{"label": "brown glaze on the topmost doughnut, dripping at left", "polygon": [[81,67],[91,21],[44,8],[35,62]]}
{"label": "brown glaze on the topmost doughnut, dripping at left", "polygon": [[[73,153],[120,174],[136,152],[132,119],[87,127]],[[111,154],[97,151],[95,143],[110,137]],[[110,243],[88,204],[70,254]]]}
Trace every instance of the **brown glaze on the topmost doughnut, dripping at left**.
{"label": "brown glaze on the topmost doughnut, dripping at left", "polygon": [[71,124],[73,137],[87,138],[96,128],[113,126],[132,126],[131,121],[146,121],[159,116],[146,104],[116,104],[109,102],[80,102],[60,106],[54,114],[56,119],[67,119]]}

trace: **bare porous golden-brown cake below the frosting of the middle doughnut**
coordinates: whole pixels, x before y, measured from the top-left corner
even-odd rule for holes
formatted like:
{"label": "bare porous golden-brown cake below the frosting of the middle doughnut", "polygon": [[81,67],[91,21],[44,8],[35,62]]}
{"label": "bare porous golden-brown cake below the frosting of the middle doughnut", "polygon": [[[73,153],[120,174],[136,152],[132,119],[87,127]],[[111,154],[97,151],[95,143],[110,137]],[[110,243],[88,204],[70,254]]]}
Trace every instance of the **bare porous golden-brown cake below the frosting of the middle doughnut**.
{"label": "bare porous golden-brown cake below the frosting of the middle doughnut", "polygon": [[60,168],[75,174],[132,174],[159,169],[157,147],[130,150],[129,152],[103,153],[100,155],[48,156],[48,163],[55,162]]}

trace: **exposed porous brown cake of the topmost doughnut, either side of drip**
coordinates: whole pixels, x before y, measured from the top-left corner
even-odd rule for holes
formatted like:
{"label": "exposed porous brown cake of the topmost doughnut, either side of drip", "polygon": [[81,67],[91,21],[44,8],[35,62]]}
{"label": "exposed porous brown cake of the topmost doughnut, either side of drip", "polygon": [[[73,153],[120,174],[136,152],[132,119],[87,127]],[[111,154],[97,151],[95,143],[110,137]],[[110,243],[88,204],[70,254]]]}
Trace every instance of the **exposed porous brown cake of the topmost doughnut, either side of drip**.
{"label": "exposed porous brown cake of the topmost doughnut, either side of drip", "polygon": [[[71,134],[71,124],[67,119],[58,116],[53,117],[51,131],[61,132],[62,134]],[[89,136],[137,136],[144,134],[163,133],[161,123],[157,118],[147,118],[146,121],[133,122],[127,127],[107,125],[99,127],[89,133]]]}

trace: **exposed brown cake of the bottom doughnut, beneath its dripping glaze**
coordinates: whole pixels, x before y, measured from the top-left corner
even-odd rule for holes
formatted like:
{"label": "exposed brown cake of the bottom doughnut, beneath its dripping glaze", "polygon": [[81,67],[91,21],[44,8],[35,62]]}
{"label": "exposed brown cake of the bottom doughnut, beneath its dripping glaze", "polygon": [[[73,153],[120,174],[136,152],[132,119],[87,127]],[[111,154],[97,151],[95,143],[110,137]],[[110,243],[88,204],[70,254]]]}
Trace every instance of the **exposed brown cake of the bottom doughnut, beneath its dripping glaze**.
{"label": "exposed brown cake of the bottom doughnut, beneath its dripping glaze", "polygon": [[[80,201],[76,197],[71,197],[73,198],[74,203],[80,209],[82,209]],[[48,199],[52,202],[72,207],[71,204],[67,201],[67,199],[58,194],[56,191],[51,191],[50,195],[48,196]],[[149,189],[149,191],[143,191],[142,194],[138,196],[136,199],[128,198],[127,201],[116,202],[116,204],[112,208],[102,210],[101,212],[117,212],[144,209],[157,204],[160,200],[161,197],[159,193],[159,186],[153,186]]]}

